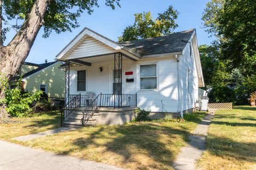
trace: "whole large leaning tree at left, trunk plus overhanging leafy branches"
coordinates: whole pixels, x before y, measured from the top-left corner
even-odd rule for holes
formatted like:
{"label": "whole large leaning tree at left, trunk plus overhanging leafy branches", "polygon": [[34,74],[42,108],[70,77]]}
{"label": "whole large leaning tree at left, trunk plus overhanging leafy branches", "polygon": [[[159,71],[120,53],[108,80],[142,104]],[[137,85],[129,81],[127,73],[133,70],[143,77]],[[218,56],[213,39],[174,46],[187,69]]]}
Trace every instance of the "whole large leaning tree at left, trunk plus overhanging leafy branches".
{"label": "whole large leaning tree at left, trunk plus overhanging leafy branches", "polygon": [[[111,8],[119,5],[119,0],[105,0]],[[71,31],[79,27],[77,19],[83,12],[91,14],[98,0],[0,0],[0,74],[7,82],[17,74],[26,60],[41,28],[43,37],[52,31]],[[14,29],[17,33],[7,45],[6,32]],[[0,82],[0,99],[5,98]],[[0,104],[0,118],[5,117],[6,104]]]}

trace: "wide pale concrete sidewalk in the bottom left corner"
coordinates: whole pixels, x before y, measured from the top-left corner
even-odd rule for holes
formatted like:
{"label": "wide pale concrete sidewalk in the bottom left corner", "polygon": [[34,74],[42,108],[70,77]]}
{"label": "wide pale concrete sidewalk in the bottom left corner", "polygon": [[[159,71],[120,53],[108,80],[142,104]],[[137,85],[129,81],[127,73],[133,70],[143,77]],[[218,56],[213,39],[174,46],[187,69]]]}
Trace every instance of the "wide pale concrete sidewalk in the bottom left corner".
{"label": "wide pale concrete sidewalk in the bottom left corner", "polygon": [[1,170],[92,170],[122,169],[111,165],[81,160],[70,156],[52,154],[0,140]]}

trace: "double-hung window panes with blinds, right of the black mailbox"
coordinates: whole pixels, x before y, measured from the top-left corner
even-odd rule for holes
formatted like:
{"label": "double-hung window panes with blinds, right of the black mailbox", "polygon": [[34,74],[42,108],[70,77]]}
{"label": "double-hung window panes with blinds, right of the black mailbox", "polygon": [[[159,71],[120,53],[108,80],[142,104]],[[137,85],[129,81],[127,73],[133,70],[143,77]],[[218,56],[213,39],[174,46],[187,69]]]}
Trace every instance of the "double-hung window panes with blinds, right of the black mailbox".
{"label": "double-hung window panes with blinds, right of the black mailbox", "polygon": [[156,88],[156,64],[140,65],[140,89]]}

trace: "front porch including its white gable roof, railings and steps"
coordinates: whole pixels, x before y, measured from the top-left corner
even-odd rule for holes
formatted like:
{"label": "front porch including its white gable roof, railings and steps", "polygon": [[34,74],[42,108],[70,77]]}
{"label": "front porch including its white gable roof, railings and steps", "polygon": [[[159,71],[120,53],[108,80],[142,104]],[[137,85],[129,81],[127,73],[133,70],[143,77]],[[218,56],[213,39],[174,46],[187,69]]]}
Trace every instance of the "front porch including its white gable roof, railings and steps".
{"label": "front porch including its white gable roof, railings and steps", "polygon": [[[73,115],[75,111],[82,111],[83,126],[102,108],[121,111],[121,108],[137,106],[135,73],[136,61],[141,55],[135,50],[85,28],[56,58],[66,63],[62,122],[77,117]],[[126,75],[126,72],[132,74]],[[89,92],[94,93],[94,97],[87,96]]]}

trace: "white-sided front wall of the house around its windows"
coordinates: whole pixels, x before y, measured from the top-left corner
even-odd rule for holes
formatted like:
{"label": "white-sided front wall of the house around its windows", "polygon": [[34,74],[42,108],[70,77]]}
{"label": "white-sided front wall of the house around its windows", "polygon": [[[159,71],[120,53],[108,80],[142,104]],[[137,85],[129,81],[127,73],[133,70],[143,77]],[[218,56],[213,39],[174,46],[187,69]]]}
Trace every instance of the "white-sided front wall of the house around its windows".
{"label": "white-sided front wall of the house around its windows", "polygon": [[[139,63],[126,57],[123,58],[123,94],[137,93],[137,106],[151,112],[177,112],[177,61],[174,57],[165,57],[160,60],[147,60]],[[140,90],[140,65],[156,64],[157,89]],[[103,67],[100,72],[99,67]],[[95,62],[92,66],[70,67],[70,94],[86,94],[88,91],[96,95],[113,94],[113,67],[114,61]],[[77,91],[77,71],[86,70],[86,91]],[[125,72],[133,72],[125,75]],[[134,82],[126,82],[134,79]]]}

